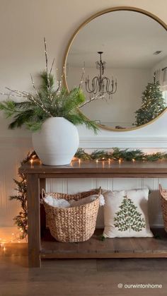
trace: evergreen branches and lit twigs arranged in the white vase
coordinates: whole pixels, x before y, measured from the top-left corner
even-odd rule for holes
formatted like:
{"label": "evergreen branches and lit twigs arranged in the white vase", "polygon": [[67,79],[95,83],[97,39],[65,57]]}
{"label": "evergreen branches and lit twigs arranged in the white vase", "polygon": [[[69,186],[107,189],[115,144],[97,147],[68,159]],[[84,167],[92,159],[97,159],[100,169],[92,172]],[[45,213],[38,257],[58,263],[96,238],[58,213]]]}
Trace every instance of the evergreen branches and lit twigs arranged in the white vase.
{"label": "evergreen branches and lit twigs arranged in the white vase", "polygon": [[[46,69],[40,73],[40,88],[35,87],[33,77],[30,76],[34,93],[11,90],[10,88],[7,88],[10,93],[0,93],[8,96],[8,100],[0,102],[0,109],[4,111],[6,117],[13,117],[13,122],[8,126],[9,129],[25,125],[30,131],[38,131],[47,118],[64,117],[74,125],[85,124],[87,128],[96,132],[98,130],[97,124],[87,119],[79,111],[79,107],[88,103],[80,88],[81,83],[78,88],[74,88],[70,92],[62,87],[62,81],[58,81],[56,86],[52,74],[54,60],[50,70],[48,69],[46,41],[45,63]],[[20,97],[22,102],[11,100],[11,96]]]}

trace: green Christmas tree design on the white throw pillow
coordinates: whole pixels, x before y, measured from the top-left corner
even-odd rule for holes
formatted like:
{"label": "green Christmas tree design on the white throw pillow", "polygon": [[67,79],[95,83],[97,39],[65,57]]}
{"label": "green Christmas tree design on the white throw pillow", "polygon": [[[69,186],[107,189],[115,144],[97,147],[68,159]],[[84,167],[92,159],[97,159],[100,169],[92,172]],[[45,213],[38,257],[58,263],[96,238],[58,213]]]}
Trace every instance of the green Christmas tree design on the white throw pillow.
{"label": "green Christmas tree design on the white throw pillow", "polygon": [[137,206],[131,199],[124,196],[121,205],[119,206],[120,211],[116,212],[116,217],[114,218],[114,226],[120,231],[134,230],[136,232],[141,231],[146,227],[144,218],[142,218],[142,213],[137,212]]}

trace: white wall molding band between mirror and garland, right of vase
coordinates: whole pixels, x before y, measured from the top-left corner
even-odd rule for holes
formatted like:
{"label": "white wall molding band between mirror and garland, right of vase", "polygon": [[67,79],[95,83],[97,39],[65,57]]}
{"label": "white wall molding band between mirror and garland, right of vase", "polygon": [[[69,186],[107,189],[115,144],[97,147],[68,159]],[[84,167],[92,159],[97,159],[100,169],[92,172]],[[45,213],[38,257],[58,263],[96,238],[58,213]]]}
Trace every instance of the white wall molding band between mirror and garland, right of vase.
{"label": "white wall molding band between mirror and garland, right of vase", "polygon": [[167,150],[167,137],[100,137],[100,136],[89,136],[80,137],[79,146],[81,148],[88,149],[109,149],[112,147],[120,148],[159,148]]}

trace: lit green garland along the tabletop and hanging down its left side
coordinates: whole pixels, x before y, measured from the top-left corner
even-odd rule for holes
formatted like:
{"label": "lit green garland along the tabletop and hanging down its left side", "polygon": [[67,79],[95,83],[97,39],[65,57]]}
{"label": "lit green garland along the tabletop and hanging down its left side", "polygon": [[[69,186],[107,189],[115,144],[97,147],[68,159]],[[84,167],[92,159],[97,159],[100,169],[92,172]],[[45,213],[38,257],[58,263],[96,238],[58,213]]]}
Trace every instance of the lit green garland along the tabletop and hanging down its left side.
{"label": "lit green garland along the tabletop and hanging down its left side", "polygon": [[[81,160],[145,160],[145,161],[156,161],[156,160],[167,160],[167,153],[156,152],[151,154],[145,154],[142,150],[129,150],[120,148],[113,148],[111,151],[95,150],[93,153],[88,154],[84,149],[79,148],[76,152],[75,158]],[[25,159],[21,161],[21,165],[30,160],[38,159],[35,151],[28,153]],[[22,230],[20,239],[25,238],[28,235],[28,210],[27,210],[27,183],[25,174],[18,174],[19,180],[13,179],[16,184],[17,194],[10,196],[10,200],[16,200],[21,203],[21,211],[18,215],[13,218],[15,224],[19,229]],[[103,239],[101,239],[103,240]]]}

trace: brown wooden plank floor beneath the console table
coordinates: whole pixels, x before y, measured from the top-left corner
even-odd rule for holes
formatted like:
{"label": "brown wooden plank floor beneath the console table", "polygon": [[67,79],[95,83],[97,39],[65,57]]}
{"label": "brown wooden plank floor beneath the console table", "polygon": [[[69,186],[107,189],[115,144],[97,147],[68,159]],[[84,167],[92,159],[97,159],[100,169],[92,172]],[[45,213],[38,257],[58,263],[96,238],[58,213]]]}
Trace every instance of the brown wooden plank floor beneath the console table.
{"label": "brown wooden plank floor beneath the console table", "polygon": [[[42,268],[28,268],[27,254],[27,244],[0,247],[0,296],[167,295],[166,259],[54,259],[42,260]],[[132,284],[162,287],[125,287]]]}

